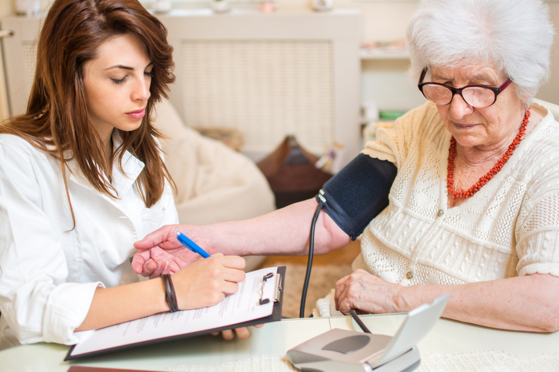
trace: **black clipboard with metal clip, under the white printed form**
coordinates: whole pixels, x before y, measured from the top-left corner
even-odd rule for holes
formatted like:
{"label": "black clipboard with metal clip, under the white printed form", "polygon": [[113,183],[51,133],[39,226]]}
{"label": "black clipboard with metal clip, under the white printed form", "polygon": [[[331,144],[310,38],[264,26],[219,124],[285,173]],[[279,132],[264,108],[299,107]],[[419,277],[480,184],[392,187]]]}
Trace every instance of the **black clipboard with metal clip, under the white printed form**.
{"label": "black clipboard with metal clip, under the white printed form", "polygon": [[281,320],[281,318],[282,318],[281,307],[282,307],[282,302],[283,302],[283,283],[285,281],[285,268],[286,268],[285,266],[277,267],[277,273],[275,273],[275,274],[274,273],[269,273],[269,274],[266,274],[263,277],[263,281],[272,281],[272,280],[275,281],[275,284],[274,284],[274,286],[275,286],[275,291],[274,291],[275,296],[273,296],[273,298],[260,298],[260,303],[267,303],[269,301],[274,302],[272,315],[262,317],[262,318],[253,319],[253,320],[249,320],[249,321],[246,321],[246,322],[235,323],[235,324],[231,324],[231,325],[227,325],[227,326],[216,327],[216,328],[211,328],[211,329],[206,329],[206,330],[201,330],[201,331],[196,331],[196,332],[189,332],[189,333],[181,334],[181,335],[164,336],[164,337],[160,337],[158,339],[151,339],[151,340],[146,340],[146,341],[133,342],[131,344],[108,347],[107,349],[97,349],[97,350],[94,350],[94,351],[91,351],[91,352],[84,352],[84,353],[75,354],[75,355],[72,355],[72,351],[74,350],[74,347],[76,345],[72,345],[72,347],[70,347],[70,350],[68,351],[68,354],[66,355],[66,357],[64,357],[64,361],[79,359],[79,358],[88,357],[88,356],[102,355],[102,354],[106,354],[108,352],[114,352],[114,351],[119,351],[119,350],[132,349],[132,348],[138,347],[138,346],[153,345],[153,344],[157,344],[159,342],[167,342],[167,341],[173,341],[173,340],[186,339],[188,337],[207,335],[207,334],[210,334],[212,332],[230,330],[231,328],[247,327],[247,326],[253,326],[253,325],[257,325],[257,324],[275,322],[275,321]]}

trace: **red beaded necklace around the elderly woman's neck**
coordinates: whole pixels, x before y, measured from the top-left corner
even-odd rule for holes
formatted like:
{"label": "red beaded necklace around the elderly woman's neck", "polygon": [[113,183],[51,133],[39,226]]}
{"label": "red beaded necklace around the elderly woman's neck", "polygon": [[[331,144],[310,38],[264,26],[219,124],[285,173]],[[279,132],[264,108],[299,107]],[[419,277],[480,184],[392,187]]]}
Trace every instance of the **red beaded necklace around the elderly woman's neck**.
{"label": "red beaded necklace around the elderly woman's neck", "polygon": [[466,199],[467,197],[472,196],[477,191],[481,189],[482,186],[487,183],[487,181],[491,180],[493,176],[495,176],[501,168],[505,165],[506,161],[509,160],[510,156],[513,154],[515,148],[517,148],[520,141],[522,141],[522,137],[524,137],[524,132],[526,131],[526,125],[528,125],[528,118],[530,117],[530,108],[526,110],[524,113],[524,119],[522,120],[522,125],[520,125],[520,129],[518,130],[517,136],[514,137],[513,142],[509,145],[508,150],[503,154],[503,157],[491,168],[489,172],[485,174],[485,176],[481,176],[480,180],[477,181],[470,187],[470,189],[464,191],[456,191],[454,190],[454,156],[456,156],[456,139],[451,137],[451,146],[448,149],[448,168],[447,168],[447,189],[448,192],[452,194],[452,198],[456,199]]}

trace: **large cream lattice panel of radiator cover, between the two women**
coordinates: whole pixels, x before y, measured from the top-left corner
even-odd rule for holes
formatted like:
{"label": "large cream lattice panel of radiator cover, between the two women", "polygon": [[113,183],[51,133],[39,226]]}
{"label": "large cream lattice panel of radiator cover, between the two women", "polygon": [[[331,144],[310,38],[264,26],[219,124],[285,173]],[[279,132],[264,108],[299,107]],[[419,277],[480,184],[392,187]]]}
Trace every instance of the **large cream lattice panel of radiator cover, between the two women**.
{"label": "large cream lattice panel of radiator cover, between the two women", "polygon": [[330,40],[185,40],[183,113],[193,127],[231,127],[251,151],[288,133],[322,151],[334,141]]}

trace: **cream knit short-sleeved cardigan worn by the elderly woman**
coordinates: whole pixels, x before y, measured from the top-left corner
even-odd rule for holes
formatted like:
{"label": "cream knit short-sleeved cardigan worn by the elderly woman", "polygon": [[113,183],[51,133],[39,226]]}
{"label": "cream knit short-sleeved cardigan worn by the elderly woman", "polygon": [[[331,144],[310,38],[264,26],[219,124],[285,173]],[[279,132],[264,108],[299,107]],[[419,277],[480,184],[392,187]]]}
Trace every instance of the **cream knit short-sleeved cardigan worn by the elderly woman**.
{"label": "cream knit short-sleeved cardigan worn by the elderly woman", "polygon": [[[559,276],[559,123],[539,105],[532,110],[544,116],[541,122],[499,173],[452,208],[446,189],[451,134],[435,105],[378,129],[363,153],[394,162],[398,173],[389,206],[362,234],[353,268],[404,286]],[[317,303],[322,316],[333,314],[328,300]]]}

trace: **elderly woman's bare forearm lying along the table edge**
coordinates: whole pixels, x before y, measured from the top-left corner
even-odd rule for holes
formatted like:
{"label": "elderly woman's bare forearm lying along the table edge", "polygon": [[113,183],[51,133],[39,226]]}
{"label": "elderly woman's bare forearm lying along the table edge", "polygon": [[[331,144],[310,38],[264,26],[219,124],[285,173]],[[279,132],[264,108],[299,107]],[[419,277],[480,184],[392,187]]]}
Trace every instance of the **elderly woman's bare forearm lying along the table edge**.
{"label": "elderly woman's bare forearm lying along the table edge", "polygon": [[402,287],[397,303],[404,311],[440,294],[451,299],[443,317],[515,331],[559,330],[559,277],[533,274],[453,286]]}

